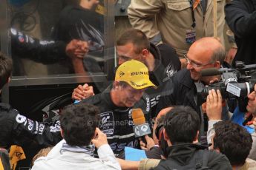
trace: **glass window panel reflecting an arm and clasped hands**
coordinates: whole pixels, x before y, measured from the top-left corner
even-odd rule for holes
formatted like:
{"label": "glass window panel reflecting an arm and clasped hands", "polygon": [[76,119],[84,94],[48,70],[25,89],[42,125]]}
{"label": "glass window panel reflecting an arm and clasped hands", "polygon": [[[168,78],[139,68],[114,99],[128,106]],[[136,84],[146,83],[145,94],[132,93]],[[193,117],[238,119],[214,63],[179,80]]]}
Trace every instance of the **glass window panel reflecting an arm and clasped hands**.
{"label": "glass window panel reflecting an arm and clasped hands", "polygon": [[[95,81],[99,76],[107,75],[111,72],[109,70],[113,70],[114,29],[110,29],[114,27],[114,16],[108,11],[110,2],[0,1],[6,4],[5,8],[1,5],[1,12],[4,12],[3,16],[7,18],[5,23],[10,23],[7,31],[11,39],[14,82],[23,82],[22,78],[30,81],[40,78],[74,78],[72,81],[75,82]],[[7,16],[10,16],[10,19]],[[106,27],[105,24],[113,26]],[[7,40],[4,41],[6,43],[1,44],[8,44]],[[1,51],[2,49],[3,47]],[[8,48],[4,49],[7,53]],[[94,78],[95,76],[97,78]],[[50,81],[51,79],[45,82],[50,84]],[[42,84],[42,80],[38,82],[40,83],[33,84]],[[59,82],[65,84],[65,80]],[[23,82],[21,85],[30,83]]]}

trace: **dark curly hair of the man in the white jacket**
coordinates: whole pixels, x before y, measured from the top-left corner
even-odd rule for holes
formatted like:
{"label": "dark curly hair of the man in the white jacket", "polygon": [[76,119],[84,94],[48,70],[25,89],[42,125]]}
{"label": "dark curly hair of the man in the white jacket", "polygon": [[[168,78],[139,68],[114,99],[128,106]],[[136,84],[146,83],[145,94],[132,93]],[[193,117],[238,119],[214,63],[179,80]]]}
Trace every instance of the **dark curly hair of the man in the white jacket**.
{"label": "dark curly hair of the man in the white jacket", "polygon": [[88,103],[66,106],[60,117],[63,138],[70,146],[88,146],[99,124],[99,109]]}

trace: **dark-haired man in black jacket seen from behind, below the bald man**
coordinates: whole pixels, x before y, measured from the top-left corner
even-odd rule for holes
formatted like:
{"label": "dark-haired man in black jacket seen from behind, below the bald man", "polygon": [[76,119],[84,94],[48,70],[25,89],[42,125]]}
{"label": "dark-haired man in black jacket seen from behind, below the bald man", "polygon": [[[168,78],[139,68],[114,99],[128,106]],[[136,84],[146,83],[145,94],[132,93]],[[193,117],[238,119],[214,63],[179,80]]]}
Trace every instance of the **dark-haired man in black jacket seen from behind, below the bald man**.
{"label": "dark-haired man in black jacket seen from behind, below the bald man", "polygon": [[171,109],[164,120],[167,159],[161,160],[154,169],[232,169],[225,155],[195,144],[199,129],[200,118],[191,107]]}

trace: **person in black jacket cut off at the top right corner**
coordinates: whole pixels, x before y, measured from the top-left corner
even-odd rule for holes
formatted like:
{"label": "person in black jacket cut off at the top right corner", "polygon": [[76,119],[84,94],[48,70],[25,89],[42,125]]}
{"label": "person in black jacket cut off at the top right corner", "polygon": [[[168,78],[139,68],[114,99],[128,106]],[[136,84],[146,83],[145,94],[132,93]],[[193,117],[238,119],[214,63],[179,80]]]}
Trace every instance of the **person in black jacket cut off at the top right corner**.
{"label": "person in black jacket cut off at the top right corner", "polygon": [[237,43],[235,61],[256,64],[256,1],[234,0],[225,7],[226,23],[234,33]]}

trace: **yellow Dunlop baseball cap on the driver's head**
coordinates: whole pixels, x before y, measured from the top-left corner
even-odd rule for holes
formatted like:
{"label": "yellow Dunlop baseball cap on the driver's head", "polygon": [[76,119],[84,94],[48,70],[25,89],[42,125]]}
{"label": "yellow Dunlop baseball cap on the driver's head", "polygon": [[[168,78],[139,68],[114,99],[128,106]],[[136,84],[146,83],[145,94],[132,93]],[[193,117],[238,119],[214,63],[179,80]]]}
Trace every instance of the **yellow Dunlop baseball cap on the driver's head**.
{"label": "yellow Dunlop baseball cap on the driver's head", "polygon": [[148,67],[136,60],[126,61],[121,64],[116,70],[115,81],[125,81],[134,89],[144,89],[149,86],[157,88],[149,80]]}

